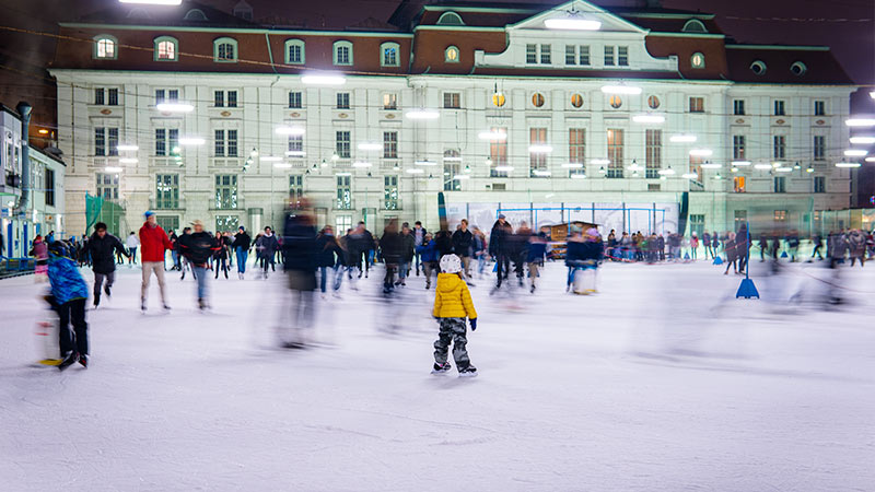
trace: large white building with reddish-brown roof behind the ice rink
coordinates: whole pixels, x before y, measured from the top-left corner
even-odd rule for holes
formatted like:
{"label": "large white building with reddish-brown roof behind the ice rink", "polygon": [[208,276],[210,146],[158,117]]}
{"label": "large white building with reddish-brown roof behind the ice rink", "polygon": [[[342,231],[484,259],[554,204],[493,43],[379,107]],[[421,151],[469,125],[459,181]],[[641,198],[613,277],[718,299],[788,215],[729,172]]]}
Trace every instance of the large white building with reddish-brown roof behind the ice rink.
{"label": "large white building with reddish-brown roof behind the ice rink", "polygon": [[[196,10],[220,20],[178,16]],[[642,232],[806,233],[849,204],[836,164],[855,87],[829,51],[733,45],[707,14],[425,5],[372,32],[124,19],[63,24],[93,46],[51,69],[77,233],[85,194],[121,206],[114,233],[145,210],[173,230],[279,226],[302,196],[341,231],[436,226],[440,191],[481,226]],[[550,27],[568,19],[599,26]]]}

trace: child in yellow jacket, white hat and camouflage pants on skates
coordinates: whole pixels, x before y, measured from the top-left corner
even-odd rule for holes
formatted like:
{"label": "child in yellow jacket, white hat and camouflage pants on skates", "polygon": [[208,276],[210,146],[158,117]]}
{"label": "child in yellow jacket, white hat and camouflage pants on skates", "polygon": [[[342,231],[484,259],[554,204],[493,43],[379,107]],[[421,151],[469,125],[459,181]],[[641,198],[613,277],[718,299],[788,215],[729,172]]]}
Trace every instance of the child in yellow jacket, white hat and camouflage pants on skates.
{"label": "child in yellow jacket, white hat and camouflage pants on skates", "polygon": [[471,331],[477,329],[477,312],[474,309],[471,293],[462,280],[462,260],[456,255],[441,258],[441,273],[434,289],[434,311],[432,315],[441,325],[438,341],[434,342],[434,370],[432,374],[450,371],[446,362],[450,343],[453,342],[453,359],[456,361],[459,376],[476,376],[477,367],[471,365],[468,351],[465,318],[471,324]]}

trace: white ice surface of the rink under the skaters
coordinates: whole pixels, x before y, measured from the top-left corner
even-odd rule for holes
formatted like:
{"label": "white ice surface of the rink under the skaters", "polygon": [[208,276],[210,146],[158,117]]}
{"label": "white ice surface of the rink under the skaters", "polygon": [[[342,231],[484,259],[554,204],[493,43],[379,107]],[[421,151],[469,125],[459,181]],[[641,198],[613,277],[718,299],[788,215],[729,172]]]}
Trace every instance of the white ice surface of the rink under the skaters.
{"label": "white ice surface of the rink under the skaters", "polygon": [[386,307],[382,272],[282,350],[279,273],[213,281],[202,314],[168,272],[173,311],[153,279],[141,314],[125,267],[88,313],[91,367],[63,373],[35,364],[45,284],[0,281],[0,489],[875,490],[875,265],[842,269],[833,311],[815,263],[758,279],[762,301],[704,261],[606,265],[593,296],[559,263],[534,295],[477,280],[476,378],[430,374],[430,293],[415,277]]}

